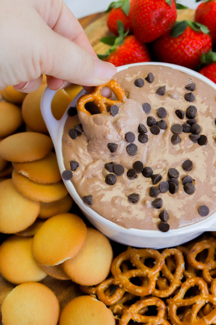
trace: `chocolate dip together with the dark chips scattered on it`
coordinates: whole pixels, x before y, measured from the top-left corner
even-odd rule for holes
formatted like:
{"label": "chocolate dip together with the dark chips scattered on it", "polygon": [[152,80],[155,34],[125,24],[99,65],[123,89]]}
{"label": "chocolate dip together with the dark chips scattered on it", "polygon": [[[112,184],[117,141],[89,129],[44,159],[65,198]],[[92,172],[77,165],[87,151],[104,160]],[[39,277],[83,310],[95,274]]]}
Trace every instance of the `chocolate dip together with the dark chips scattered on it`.
{"label": "chocolate dip together with the dark chips scattered on it", "polygon": [[114,79],[123,102],[93,115],[69,109],[63,178],[126,228],[165,232],[216,212],[216,91],[160,65]]}

